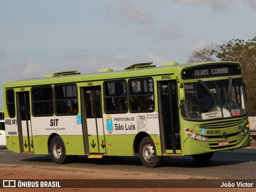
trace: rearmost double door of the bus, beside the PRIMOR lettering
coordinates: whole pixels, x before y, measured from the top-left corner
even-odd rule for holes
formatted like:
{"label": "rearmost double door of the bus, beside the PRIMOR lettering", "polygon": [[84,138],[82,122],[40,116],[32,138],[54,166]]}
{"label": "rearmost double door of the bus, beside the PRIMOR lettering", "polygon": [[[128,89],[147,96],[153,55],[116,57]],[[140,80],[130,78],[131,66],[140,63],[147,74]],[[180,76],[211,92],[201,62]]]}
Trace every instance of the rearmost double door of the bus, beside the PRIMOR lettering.
{"label": "rearmost double door of the bus, beside the PRIMOR lettering", "polygon": [[29,92],[17,92],[16,100],[20,152],[33,152]]}

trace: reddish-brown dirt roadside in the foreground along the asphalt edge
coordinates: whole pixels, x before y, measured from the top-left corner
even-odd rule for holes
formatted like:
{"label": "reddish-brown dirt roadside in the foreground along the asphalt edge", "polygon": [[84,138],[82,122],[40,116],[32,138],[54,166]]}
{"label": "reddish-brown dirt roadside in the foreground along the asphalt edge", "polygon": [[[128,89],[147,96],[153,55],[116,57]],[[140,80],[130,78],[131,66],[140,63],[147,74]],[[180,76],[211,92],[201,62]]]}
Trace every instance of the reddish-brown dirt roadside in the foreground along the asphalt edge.
{"label": "reddish-brown dirt roadside in the foreground along the asphalt edge", "polygon": [[[18,164],[0,164],[0,179],[24,180],[24,179],[218,179],[218,178],[202,178],[200,176],[191,177],[177,174],[152,174],[140,172],[120,172],[109,170],[106,174],[105,170],[94,170],[88,168],[70,168],[50,166],[38,167]],[[0,188],[1,192],[252,192],[256,188]]]}

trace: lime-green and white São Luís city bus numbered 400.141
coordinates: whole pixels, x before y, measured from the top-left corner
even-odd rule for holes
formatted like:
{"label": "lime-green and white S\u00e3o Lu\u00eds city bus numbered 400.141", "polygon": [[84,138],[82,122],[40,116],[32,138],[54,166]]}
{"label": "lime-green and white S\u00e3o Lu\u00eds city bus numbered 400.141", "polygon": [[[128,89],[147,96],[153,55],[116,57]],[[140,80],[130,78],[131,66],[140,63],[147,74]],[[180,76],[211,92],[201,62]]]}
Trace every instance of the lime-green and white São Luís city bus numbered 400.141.
{"label": "lime-green and white S\u00e3o Lu\u00eds city bus numbered 400.141", "polygon": [[138,63],[92,74],[62,71],[4,84],[8,150],[78,156],[164,157],[204,162],[250,146],[246,91],[237,62]]}

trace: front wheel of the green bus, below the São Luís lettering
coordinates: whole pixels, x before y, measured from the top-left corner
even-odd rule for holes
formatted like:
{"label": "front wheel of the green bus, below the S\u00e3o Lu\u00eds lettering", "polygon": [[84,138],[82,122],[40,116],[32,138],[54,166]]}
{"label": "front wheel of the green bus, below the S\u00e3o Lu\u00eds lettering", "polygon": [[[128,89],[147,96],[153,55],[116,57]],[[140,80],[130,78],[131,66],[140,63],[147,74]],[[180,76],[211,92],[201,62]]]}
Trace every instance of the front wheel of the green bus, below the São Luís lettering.
{"label": "front wheel of the green bus, below the S\u00e3o Lu\u00eds lettering", "polygon": [[144,137],[139,147],[140,160],[148,168],[159,167],[163,162],[163,156],[156,155],[156,147],[150,137]]}

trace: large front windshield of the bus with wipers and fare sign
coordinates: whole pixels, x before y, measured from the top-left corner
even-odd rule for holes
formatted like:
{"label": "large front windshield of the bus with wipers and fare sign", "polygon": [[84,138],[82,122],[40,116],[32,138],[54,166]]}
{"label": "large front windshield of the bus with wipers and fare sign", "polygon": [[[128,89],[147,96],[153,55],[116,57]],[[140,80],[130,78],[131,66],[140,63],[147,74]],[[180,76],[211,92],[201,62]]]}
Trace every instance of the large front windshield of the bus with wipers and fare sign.
{"label": "large front windshield of the bus with wipers and fare sign", "polygon": [[242,79],[198,80],[184,84],[185,102],[182,117],[186,120],[213,120],[246,114],[246,96]]}

